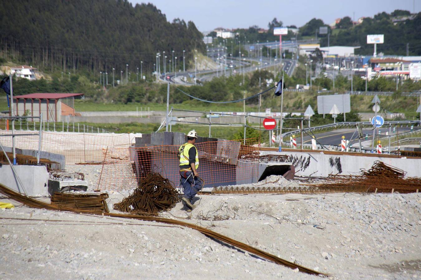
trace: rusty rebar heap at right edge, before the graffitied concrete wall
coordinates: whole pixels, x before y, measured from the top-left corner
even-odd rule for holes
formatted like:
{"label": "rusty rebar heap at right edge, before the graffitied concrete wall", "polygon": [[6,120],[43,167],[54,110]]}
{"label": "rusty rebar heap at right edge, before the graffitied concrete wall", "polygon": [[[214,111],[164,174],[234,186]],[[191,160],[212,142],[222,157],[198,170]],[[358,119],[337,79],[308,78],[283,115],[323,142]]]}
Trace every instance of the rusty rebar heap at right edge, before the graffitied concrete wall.
{"label": "rusty rebar heap at right edge, before the graffitied concrete wall", "polygon": [[369,170],[361,169],[361,175],[329,175],[325,182],[312,185],[320,191],[337,188],[354,192],[410,193],[421,189],[421,178],[404,178],[405,171],[376,161]]}

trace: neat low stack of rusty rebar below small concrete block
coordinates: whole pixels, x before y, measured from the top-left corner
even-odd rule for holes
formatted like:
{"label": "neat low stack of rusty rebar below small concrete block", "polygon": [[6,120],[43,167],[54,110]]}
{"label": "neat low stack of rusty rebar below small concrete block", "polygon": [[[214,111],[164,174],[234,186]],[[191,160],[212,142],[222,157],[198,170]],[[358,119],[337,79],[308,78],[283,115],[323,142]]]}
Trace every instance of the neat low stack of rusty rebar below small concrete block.
{"label": "neat low stack of rusty rebar below small concrete block", "polygon": [[108,213],[108,194],[69,194],[55,192],[51,196],[51,204],[59,209],[72,208],[79,210],[90,210],[94,212]]}

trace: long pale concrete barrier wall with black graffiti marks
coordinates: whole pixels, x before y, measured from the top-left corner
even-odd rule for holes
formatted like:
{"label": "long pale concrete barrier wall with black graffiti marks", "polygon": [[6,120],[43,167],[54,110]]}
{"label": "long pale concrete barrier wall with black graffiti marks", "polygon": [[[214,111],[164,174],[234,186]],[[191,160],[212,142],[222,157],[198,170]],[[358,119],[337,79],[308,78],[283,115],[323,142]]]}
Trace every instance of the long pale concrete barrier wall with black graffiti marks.
{"label": "long pale concrete barrier wall with black graffiti marks", "polygon": [[291,157],[298,176],[321,176],[329,174],[357,175],[360,168],[370,169],[376,160],[400,168],[407,177],[421,176],[421,160],[394,157],[366,157],[361,155],[332,155],[322,152],[268,152],[261,154],[287,154]]}

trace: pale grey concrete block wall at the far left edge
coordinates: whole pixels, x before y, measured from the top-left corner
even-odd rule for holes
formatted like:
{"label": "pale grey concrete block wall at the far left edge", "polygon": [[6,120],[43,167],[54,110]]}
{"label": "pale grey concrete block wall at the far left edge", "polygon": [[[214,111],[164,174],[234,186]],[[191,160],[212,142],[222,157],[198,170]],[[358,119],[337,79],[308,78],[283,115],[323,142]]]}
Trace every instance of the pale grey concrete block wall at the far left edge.
{"label": "pale grey concrete block wall at the far left edge", "polygon": [[[48,195],[48,172],[45,166],[15,165],[14,168],[28,196]],[[0,166],[0,183],[24,194],[16,175],[10,165]]]}

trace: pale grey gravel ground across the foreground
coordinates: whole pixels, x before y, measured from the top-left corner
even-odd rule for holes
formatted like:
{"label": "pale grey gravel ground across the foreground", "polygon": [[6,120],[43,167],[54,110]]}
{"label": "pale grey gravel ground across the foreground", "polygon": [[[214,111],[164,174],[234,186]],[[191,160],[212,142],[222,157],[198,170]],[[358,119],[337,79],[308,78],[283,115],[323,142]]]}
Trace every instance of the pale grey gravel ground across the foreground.
{"label": "pale grey gravel ground across the foreground", "polygon": [[[128,191],[109,194],[112,209]],[[333,279],[421,277],[419,194],[197,198],[190,215],[179,203],[161,216],[208,227]],[[0,210],[3,279],[319,279],[192,229],[14,204]]]}

